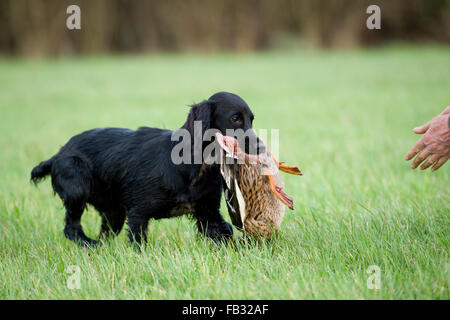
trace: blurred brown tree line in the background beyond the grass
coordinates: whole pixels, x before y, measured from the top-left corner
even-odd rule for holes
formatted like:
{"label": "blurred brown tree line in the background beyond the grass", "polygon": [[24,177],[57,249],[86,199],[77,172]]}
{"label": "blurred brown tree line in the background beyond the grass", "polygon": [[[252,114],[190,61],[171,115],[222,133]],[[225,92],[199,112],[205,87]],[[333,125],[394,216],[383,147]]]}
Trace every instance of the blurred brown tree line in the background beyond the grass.
{"label": "blurred brown tree line in the background beyond the grass", "polygon": [[[66,8],[81,8],[68,30]],[[368,30],[366,8],[381,8]],[[0,0],[0,53],[259,50],[450,43],[450,0]]]}

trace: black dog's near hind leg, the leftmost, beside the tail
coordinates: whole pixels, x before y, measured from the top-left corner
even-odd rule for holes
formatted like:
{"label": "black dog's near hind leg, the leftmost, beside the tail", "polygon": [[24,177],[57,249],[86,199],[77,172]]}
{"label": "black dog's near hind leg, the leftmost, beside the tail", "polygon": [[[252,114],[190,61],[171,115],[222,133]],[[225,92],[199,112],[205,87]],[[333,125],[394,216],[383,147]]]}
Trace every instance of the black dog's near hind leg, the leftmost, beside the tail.
{"label": "black dog's near hind leg, the leftmost, beside the tail", "polygon": [[52,186],[66,207],[64,235],[83,247],[96,246],[81,227],[81,216],[91,190],[89,164],[79,156],[57,159],[52,166]]}

